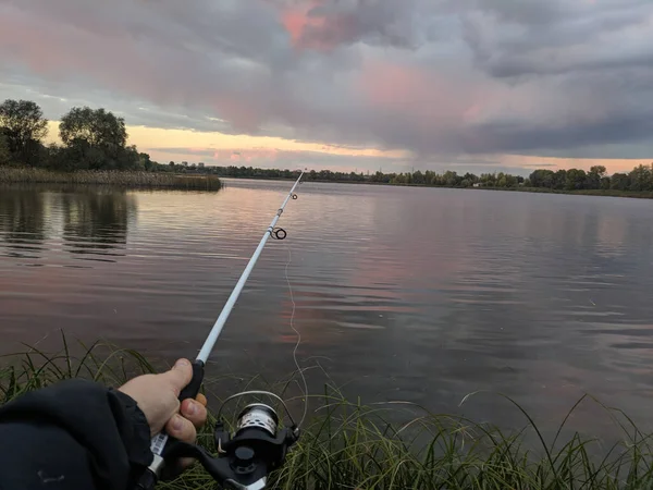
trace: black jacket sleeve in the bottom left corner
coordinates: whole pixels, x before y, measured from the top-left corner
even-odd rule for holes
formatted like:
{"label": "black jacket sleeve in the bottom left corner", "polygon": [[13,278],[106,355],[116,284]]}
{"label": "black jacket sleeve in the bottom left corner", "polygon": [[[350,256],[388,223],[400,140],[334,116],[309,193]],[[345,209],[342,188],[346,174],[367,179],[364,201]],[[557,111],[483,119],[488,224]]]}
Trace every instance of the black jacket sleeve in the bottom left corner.
{"label": "black jacket sleeve in the bottom left corner", "polygon": [[126,394],[85,380],[0,408],[0,490],[126,490],[152,461],[150,429]]}

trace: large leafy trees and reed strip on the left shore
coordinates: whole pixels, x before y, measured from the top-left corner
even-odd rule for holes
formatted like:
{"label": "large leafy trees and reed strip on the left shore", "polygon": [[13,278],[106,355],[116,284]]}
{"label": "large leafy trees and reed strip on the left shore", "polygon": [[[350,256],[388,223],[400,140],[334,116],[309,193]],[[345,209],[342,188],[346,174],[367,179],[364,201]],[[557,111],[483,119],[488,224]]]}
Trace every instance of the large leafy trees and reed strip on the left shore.
{"label": "large leafy trees and reed strip on the left shore", "polygon": [[184,175],[127,146],[124,120],[104,109],[74,107],[64,114],[59,125],[63,145],[44,145],[47,126],[33,101],[0,105],[0,183],[220,188],[217,176]]}

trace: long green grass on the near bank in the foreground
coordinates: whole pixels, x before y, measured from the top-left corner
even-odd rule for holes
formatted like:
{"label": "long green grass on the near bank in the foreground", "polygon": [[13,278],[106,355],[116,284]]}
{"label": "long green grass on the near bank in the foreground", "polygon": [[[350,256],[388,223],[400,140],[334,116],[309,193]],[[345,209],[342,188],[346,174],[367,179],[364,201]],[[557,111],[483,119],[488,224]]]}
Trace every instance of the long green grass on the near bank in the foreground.
{"label": "long green grass on the near bank in the foreground", "polygon": [[[120,385],[131,376],[153,371],[150,362],[135,351],[96,343],[77,346],[75,351],[79,354],[73,354],[65,338],[62,343],[60,352],[45,353],[29,347],[1,359],[5,367],[0,369],[0,403],[61,379],[85,377]],[[210,380],[207,383],[208,387],[212,384]],[[281,387],[289,384],[289,380],[285,380]],[[571,407],[560,421],[557,436],[547,443],[535,422],[517,404],[525,427],[508,433],[461,417],[431,414],[410,404],[364,406],[350,403],[326,387],[324,393],[313,395],[317,409],[309,413],[303,437],[284,466],[272,476],[270,488],[653,488],[650,436],[640,433],[624,414],[605,408],[624,436],[620,443],[611,448],[604,449],[600,441],[583,439],[578,433],[563,440],[562,433],[568,430],[566,425],[570,416],[581,402],[589,400],[583,397]],[[416,411],[420,414],[416,415]],[[396,420],[398,415],[410,415],[410,419],[401,425],[389,421]],[[200,434],[200,442],[211,450],[212,424],[211,417]],[[527,446],[527,434],[534,434],[540,443]],[[208,489],[215,486],[196,465],[162,488]]]}

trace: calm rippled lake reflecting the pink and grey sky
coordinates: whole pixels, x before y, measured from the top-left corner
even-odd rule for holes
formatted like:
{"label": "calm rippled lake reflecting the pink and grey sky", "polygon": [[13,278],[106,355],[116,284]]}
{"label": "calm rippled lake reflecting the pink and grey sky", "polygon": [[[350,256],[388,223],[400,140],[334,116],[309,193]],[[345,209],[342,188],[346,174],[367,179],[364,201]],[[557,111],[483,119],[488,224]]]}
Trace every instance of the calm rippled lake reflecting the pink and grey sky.
{"label": "calm rippled lake reflecting the pink and grey sky", "polygon": [[[0,188],[0,352],[59,329],[194,357],[292,182],[218,193]],[[653,421],[653,201],[306,183],[209,370],[557,427],[591,393]],[[289,262],[288,262],[289,258]],[[45,340],[44,340],[45,339]],[[291,390],[292,391],[292,390]],[[295,390],[295,394],[296,394]],[[576,428],[607,433],[588,404]],[[653,425],[651,425],[653,426]]]}

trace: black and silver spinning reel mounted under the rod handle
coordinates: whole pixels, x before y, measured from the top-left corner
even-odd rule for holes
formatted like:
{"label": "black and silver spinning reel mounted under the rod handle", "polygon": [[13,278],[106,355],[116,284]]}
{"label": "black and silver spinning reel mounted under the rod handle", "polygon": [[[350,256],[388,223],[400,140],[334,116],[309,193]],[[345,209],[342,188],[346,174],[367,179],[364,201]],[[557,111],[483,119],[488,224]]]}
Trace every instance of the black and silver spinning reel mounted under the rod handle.
{"label": "black and silver spinning reel mounted under the rod handle", "polygon": [[[245,392],[231,396],[224,404],[245,394],[267,394],[279,399],[269,392]],[[224,404],[218,413],[213,434],[217,456],[199,445],[174,441],[163,451],[163,460],[194,457],[225,490],[264,489],[270,473],[283,464],[287,451],[299,439],[299,428],[283,401],[292,425],[281,430],[279,416],[271,406],[252,403],[239,413],[235,430],[230,434],[220,416]]]}

